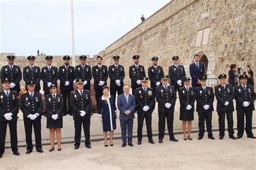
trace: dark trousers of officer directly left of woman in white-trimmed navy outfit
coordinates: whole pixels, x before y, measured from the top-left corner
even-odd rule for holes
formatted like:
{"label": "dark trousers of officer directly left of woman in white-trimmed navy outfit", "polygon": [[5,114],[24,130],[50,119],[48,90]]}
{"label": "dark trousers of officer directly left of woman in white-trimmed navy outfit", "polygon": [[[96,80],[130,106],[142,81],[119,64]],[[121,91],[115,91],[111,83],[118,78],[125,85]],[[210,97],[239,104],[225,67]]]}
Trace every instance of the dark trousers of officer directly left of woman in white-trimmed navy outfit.
{"label": "dark trousers of officer directly left of woman in white-trimmed navy outfit", "polygon": [[90,145],[90,118],[74,120],[75,123],[75,146],[80,146],[82,125],[84,128],[85,146]]}

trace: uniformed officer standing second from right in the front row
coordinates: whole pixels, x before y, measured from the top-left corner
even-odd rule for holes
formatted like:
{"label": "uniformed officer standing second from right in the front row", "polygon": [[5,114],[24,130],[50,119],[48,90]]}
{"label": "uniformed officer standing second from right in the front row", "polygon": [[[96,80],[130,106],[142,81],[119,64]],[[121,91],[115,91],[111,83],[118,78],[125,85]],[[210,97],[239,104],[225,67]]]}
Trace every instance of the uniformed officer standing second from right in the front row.
{"label": "uniformed officer standing second from right in the front row", "polygon": [[227,84],[227,75],[220,74],[218,76],[220,84],[214,88],[217,98],[217,112],[219,116],[219,139],[225,136],[225,115],[227,115],[227,131],[231,139],[234,137],[233,129],[233,111],[234,111],[234,90],[233,86]]}

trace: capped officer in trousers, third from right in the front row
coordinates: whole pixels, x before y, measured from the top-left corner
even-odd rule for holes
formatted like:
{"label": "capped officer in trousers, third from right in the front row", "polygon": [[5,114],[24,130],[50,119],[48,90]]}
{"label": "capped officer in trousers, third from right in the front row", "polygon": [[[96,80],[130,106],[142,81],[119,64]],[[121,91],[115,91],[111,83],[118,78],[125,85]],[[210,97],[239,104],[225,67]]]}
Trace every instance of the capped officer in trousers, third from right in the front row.
{"label": "capped officer in trousers, third from right in the front row", "polygon": [[213,88],[206,87],[207,76],[199,78],[201,87],[196,88],[197,112],[198,112],[198,140],[203,139],[205,133],[205,122],[209,139],[215,139],[212,135],[212,111],[214,93]]}

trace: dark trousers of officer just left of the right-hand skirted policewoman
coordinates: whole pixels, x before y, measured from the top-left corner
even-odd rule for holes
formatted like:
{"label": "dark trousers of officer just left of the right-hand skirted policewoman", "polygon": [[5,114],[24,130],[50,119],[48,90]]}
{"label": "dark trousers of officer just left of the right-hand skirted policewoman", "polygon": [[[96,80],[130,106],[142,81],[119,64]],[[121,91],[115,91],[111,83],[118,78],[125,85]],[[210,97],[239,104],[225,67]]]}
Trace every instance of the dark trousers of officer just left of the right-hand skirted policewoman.
{"label": "dark trousers of officer just left of the right-hand skirted policewoman", "polygon": [[165,133],[165,118],[167,120],[167,128],[169,132],[169,137],[173,138],[173,112],[174,111],[159,111],[158,110],[158,139],[163,139],[164,138],[164,133]]}

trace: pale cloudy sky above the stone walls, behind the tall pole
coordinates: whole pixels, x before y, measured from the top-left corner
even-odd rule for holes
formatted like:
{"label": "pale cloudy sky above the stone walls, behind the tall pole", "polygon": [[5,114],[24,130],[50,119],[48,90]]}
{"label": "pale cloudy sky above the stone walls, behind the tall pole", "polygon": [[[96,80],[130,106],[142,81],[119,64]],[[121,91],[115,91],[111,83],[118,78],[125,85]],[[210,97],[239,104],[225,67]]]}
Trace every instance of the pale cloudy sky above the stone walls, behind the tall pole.
{"label": "pale cloudy sky above the stone walls, behind the tall pole", "polygon": [[[75,52],[97,54],[169,1],[74,1]],[[0,0],[0,53],[72,54],[71,1]]]}

